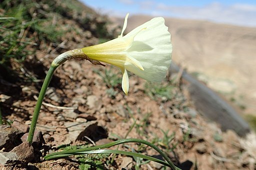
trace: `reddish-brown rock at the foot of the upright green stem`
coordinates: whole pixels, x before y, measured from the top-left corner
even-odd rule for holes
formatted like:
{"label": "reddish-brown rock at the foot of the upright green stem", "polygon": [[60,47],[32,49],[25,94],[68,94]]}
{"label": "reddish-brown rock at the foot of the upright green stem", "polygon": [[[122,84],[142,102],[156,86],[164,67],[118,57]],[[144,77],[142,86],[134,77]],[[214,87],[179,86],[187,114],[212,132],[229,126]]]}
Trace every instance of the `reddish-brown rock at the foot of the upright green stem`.
{"label": "reddish-brown rock at the foot of the upright green stem", "polygon": [[34,149],[27,141],[13,148],[10,153],[15,153],[18,160],[22,162],[30,162],[34,158]]}

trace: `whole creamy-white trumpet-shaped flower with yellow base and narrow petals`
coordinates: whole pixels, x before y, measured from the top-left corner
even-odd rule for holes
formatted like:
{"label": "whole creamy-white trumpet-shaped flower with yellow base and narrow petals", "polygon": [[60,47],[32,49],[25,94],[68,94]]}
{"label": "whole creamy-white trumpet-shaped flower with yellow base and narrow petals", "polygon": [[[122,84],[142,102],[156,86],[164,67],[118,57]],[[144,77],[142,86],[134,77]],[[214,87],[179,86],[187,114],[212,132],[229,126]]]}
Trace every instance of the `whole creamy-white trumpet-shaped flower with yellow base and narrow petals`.
{"label": "whole creamy-white trumpet-shaped flower with yellow base and narrow petals", "polygon": [[122,36],[127,18],[128,14],[117,38],[81,49],[91,60],[120,68],[122,90],[126,95],[129,90],[127,70],[145,80],[160,82],[170,66],[172,52],[170,33],[162,17],[155,17]]}

